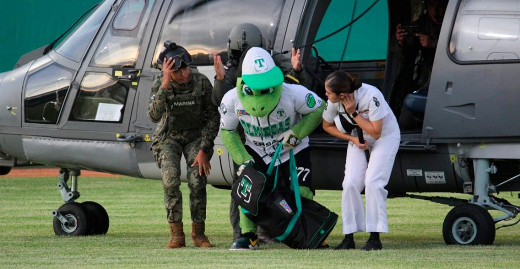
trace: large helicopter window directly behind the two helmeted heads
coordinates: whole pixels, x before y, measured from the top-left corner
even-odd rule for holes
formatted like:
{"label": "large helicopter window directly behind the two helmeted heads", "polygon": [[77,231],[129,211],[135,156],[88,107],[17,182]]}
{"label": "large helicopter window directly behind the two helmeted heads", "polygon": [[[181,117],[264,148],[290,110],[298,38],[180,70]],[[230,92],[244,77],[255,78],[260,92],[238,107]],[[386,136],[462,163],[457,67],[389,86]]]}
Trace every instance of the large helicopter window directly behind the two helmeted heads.
{"label": "large helicopter window directly behind the two helmeted heads", "polygon": [[185,47],[194,65],[213,65],[213,52],[220,53],[226,61],[229,32],[233,26],[244,22],[255,24],[265,38],[266,48],[272,48],[284,2],[248,0],[237,5],[236,1],[230,0],[173,1],[175,5],[169,9],[164,21],[151,66],[167,40]]}

